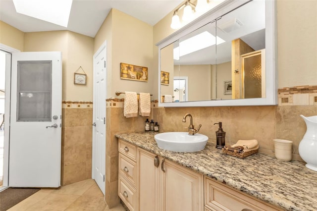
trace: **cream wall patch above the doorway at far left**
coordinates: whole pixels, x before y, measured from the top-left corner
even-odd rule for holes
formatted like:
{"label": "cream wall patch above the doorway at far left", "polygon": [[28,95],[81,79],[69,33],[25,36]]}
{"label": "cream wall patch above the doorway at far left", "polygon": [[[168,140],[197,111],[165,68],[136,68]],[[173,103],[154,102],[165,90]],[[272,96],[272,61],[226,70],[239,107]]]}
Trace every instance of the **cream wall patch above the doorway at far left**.
{"label": "cream wall patch above the doorway at far left", "polygon": [[0,21],[0,43],[23,52],[24,32]]}

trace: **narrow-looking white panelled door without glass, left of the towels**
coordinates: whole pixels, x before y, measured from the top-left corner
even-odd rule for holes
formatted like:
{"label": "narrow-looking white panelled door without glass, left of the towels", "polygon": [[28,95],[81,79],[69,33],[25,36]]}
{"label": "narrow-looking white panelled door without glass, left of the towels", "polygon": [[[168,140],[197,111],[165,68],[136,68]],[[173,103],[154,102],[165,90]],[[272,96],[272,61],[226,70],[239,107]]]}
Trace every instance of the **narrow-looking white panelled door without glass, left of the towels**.
{"label": "narrow-looking white panelled door without glass, left of the towels", "polygon": [[106,42],[94,55],[92,177],[105,195],[106,180]]}

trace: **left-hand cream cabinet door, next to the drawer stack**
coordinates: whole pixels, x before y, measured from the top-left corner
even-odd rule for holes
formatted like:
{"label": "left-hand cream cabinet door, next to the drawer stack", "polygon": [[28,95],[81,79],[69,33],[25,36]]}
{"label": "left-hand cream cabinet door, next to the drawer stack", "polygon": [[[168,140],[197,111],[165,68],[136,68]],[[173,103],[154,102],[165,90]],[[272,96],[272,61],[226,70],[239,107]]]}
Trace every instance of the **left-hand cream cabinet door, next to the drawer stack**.
{"label": "left-hand cream cabinet door, next to the drawer stack", "polygon": [[138,190],[140,211],[161,210],[159,208],[159,205],[161,204],[161,197],[159,197],[159,160],[157,160],[157,166],[155,166],[155,159],[159,159],[159,157],[138,148]]}

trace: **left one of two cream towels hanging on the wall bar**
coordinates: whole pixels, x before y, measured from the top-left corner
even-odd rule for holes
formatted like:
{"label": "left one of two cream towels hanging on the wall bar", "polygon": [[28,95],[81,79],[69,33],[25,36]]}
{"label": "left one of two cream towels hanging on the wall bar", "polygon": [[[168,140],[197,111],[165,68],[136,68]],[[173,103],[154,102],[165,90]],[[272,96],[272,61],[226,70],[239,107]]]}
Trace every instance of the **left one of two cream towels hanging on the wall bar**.
{"label": "left one of two cream towels hanging on the wall bar", "polygon": [[123,115],[127,118],[138,116],[138,95],[136,92],[125,92]]}

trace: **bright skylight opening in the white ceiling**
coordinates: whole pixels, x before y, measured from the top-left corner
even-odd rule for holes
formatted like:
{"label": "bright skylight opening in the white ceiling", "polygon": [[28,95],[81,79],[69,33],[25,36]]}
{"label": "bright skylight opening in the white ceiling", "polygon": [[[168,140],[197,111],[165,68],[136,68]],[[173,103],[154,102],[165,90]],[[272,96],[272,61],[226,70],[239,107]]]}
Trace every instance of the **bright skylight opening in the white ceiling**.
{"label": "bright skylight opening in the white ceiling", "polygon": [[72,0],[13,0],[18,13],[67,27]]}

